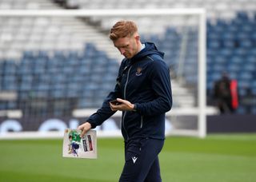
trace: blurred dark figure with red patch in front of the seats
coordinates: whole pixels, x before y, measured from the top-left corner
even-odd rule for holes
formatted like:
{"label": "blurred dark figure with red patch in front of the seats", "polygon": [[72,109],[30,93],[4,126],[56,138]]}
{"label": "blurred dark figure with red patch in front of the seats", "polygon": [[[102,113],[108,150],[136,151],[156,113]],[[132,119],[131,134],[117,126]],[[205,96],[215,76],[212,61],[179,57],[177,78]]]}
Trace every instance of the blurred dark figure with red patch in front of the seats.
{"label": "blurred dark figure with red patch in front of the seats", "polygon": [[220,80],[214,83],[214,99],[220,113],[233,113],[238,108],[237,81],[230,80],[227,73],[222,73]]}

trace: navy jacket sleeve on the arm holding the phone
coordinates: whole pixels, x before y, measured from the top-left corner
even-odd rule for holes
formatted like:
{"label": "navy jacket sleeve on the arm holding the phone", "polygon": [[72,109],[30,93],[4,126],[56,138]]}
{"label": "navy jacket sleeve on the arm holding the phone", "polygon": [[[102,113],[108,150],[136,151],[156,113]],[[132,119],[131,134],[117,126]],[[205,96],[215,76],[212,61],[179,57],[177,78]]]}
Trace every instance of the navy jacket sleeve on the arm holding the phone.
{"label": "navy jacket sleeve on the arm holding the phone", "polygon": [[153,61],[150,65],[149,78],[156,97],[153,101],[135,103],[135,110],[146,116],[166,113],[172,107],[170,71],[166,63],[161,60]]}

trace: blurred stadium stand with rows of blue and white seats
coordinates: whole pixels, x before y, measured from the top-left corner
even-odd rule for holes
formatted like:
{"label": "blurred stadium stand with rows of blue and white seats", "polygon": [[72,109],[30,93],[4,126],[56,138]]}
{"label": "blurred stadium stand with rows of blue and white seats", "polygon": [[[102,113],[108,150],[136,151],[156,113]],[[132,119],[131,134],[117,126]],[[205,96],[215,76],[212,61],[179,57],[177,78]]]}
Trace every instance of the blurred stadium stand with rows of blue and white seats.
{"label": "blurred stadium stand with rows of blue and white seats", "polygon": [[[122,9],[122,8],[193,8],[207,10],[207,96],[211,103],[214,81],[223,71],[238,80],[241,104],[237,113],[256,113],[256,4],[246,1],[76,1],[46,0],[0,1],[0,9]],[[17,98],[1,100],[1,110],[21,109],[24,115],[69,116],[73,109],[98,108],[112,89],[121,60],[106,30],[116,20],[94,18],[1,18],[0,92],[13,92]],[[193,21],[193,20],[191,20]],[[145,40],[152,40],[166,52],[166,61],[176,75],[181,34],[165,22],[149,27],[147,18],[139,18]],[[156,21],[158,22],[158,21]],[[176,21],[178,22],[178,21]],[[94,26],[94,25],[99,26]],[[150,30],[150,32],[148,31]],[[85,36],[85,34],[87,36]],[[72,36],[70,36],[72,35]],[[90,35],[90,36],[88,36]],[[187,32],[186,48],[197,44],[197,34]],[[96,40],[96,41],[95,41]],[[171,44],[170,42],[177,42]],[[166,51],[168,50],[168,51]],[[171,50],[171,51],[170,51]],[[197,81],[191,69],[198,55],[194,49],[184,55],[182,73],[186,83]],[[74,73],[76,73],[74,75]],[[193,76],[194,75],[194,76]],[[194,105],[187,88],[179,87],[176,105]],[[184,99],[185,97],[185,99]],[[183,100],[182,100],[183,98]],[[186,103],[182,101],[186,100]]]}

